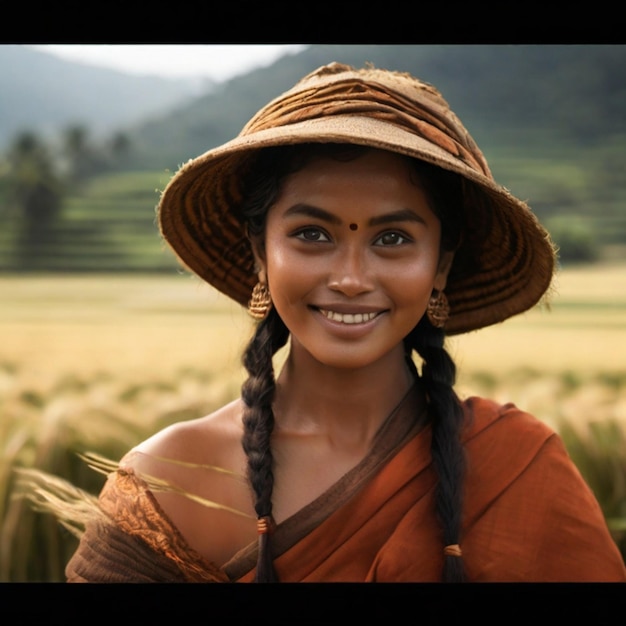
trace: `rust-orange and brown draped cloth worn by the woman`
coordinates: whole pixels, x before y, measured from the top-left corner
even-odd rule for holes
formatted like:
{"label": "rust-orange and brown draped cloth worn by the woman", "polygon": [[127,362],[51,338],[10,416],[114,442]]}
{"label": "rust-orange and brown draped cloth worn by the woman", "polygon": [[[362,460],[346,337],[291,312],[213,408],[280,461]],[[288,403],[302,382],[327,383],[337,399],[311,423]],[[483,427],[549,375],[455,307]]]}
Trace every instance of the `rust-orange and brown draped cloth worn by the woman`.
{"label": "rust-orange and brown draped cloth worn by the woman", "polygon": [[[469,580],[626,582],[602,511],[560,438],[511,404],[471,398],[464,409],[468,469],[460,545]],[[274,564],[281,581],[441,580],[430,428],[399,427],[406,410],[405,403],[388,420],[366,459],[277,526]],[[207,561],[132,473],[111,474],[100,503],[100,519],[88,525],[68,563],[70,582],[254,578],[256,543],[221,566]]]}

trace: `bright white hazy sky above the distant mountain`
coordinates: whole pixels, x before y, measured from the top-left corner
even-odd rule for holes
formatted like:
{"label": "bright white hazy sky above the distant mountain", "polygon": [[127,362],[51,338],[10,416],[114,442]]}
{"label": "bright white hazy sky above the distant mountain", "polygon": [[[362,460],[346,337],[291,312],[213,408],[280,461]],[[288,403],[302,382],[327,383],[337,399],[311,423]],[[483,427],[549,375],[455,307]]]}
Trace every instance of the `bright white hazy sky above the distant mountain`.
{"label": "bright white hazy sky above the distant mountain", "polygon": [[132,74],[208,77],[222,81],[271,64],[300,44],[45,44],[31,48],[70,61],[98,65]]}

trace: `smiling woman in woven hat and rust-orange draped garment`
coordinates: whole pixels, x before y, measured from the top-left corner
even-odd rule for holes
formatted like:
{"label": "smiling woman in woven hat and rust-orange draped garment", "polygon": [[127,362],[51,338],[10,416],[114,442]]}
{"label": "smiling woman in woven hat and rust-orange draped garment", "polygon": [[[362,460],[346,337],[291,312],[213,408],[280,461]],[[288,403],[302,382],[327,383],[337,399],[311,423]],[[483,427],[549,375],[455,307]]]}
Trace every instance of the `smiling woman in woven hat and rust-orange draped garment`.
{"label": "smiling woman in woven hat and rust-orange draped garment", "polygon": [[558,436],[454,392],[446,335],[534,306],[555,255],[434,88],[322,67],[159,220],[257,319],[248,378],[122,459],[68,580],[626,580]]}

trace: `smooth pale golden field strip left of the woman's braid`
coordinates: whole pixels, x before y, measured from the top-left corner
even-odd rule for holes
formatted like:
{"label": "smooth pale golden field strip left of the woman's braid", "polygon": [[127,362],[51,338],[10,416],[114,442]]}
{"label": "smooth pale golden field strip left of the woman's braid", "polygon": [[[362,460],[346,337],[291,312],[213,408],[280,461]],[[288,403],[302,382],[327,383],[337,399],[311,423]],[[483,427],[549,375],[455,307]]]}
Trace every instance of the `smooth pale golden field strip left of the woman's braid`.
{"label": "smooth pale golden field strip left of the woman's braid", "polygon": [[177,275],[11,277],[0,292],[0,362],[39,380],[234,370],[250,332],[239,307]]}

